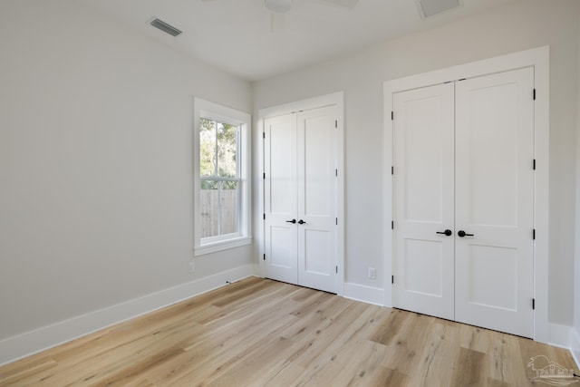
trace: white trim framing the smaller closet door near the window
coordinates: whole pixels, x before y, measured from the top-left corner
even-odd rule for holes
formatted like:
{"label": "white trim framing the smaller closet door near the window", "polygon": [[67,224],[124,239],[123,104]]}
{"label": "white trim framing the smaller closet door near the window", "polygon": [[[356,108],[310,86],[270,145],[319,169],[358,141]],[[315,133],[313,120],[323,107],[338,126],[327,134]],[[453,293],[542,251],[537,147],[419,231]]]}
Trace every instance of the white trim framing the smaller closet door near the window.
{"label": "white trim framing the smaller closet door near the window", "polygon": [[[337,141],[336,141],[336,165],[337,173],[337,192],[336,192],[336,216],[338,218],[338,225],[336,229],[336,265],[338,266],[338,273],[336,276],[336,294],[343,295],[344,288],[344,93],[333,92],[314,98],[309,98],[302,101],[285,103],[273,107],[263,108],[258,110],[258,119],[256,123],[256,136],[259,142],[259,160],[258,168],[260,173],[259,179],[259,203],[257,209],[257,216],[262,217],[264,213],[264,179],[262,173],[264,172],[264,146],[262,141],[262,132],[264,131],[264,120],[268,117],[275,117],[292,113],[295,111],[305,111],[325,106],[336,105],[338,113],[337,122]],[[258,221],[258,259],[260,276],[266,275],[266,267],[264,265],[263,256],[265,254],[265,232],[264,221],[259,218]]]}

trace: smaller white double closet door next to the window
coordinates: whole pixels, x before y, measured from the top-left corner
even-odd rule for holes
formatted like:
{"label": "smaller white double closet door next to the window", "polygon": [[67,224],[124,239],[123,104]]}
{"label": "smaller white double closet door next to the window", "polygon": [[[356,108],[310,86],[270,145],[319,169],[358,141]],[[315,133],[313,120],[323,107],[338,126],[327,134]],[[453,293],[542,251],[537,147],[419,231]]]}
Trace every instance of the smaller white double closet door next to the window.
{"label": "smaller white double closet door next to the window", "polygon": [[337,107],[264,120],[266,277],[336,293]]}

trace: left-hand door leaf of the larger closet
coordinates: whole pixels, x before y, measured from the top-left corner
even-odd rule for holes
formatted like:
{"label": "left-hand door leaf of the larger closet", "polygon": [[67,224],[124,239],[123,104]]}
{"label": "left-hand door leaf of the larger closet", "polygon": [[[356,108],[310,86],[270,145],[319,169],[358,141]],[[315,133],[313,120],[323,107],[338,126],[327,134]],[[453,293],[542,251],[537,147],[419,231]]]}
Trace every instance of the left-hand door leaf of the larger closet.
{"label": "left-hand door leaf of the larger closet", "polygon": [[393,95],[395,307],[454,318],[453,84]]}

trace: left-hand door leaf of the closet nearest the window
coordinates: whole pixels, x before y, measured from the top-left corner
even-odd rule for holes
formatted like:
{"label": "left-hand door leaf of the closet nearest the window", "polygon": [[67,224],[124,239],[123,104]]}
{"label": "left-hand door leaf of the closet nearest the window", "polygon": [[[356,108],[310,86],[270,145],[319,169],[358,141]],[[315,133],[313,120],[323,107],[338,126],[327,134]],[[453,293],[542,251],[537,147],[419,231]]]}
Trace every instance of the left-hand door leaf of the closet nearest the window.
{"label": "left-hand door leaf of the closet nearest the window", "polygon": [[296,117],[264,121],[266,276],[297,284]]}

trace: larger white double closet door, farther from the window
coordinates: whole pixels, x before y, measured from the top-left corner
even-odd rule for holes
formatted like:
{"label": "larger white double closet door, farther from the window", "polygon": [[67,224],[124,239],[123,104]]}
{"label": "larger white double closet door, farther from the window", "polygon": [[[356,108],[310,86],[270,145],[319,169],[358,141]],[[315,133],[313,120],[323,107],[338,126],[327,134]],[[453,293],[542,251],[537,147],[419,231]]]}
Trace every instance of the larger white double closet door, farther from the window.
{"label": "larger white double closet door, farther from the window", "polygon": [[393,95],[393,305],[533,335],[534,72]]}

